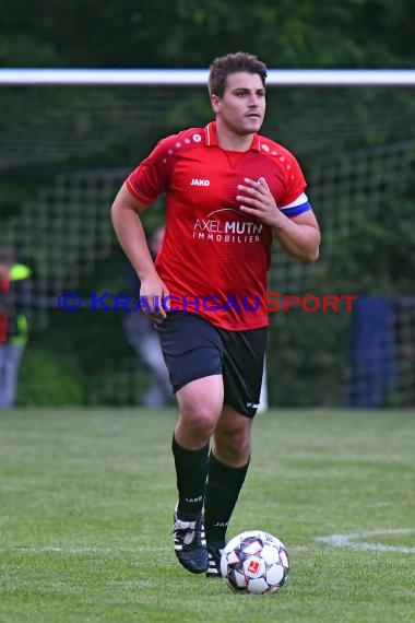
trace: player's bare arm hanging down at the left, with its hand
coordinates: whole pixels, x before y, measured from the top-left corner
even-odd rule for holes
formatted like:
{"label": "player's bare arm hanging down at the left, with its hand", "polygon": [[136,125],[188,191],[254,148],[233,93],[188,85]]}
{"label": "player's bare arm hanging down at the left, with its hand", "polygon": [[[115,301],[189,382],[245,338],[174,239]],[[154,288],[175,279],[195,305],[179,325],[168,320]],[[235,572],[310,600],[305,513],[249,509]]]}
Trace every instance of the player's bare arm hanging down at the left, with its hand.
{"label": "player's bare arm hanging down at the left, with its hand", "polygon": [[168,296],[168,290],[156,272],[140,220],[140,213],[146,208],[149,204],[137,200],[123,184],[111,207],[111,221],[117,238],[141,281],[140,296],[145,297],[150,309],[147,312],[143,307],[143,312],[154,320],[163,320],[166,313],[162,301]]}

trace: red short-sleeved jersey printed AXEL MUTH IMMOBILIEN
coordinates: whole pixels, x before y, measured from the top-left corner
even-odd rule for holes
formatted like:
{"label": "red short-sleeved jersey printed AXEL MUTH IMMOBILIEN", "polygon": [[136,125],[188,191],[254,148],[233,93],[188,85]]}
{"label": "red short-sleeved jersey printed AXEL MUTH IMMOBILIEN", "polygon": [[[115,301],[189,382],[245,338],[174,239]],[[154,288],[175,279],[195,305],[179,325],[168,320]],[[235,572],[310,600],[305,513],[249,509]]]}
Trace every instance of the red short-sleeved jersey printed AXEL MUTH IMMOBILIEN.
{"label": "red short-sleeved jersey printed AXEL MUTH IMMOBILIEN", "polygon": [[263,295],[272,228],[240,211],[237,186],[245,177],[263,178],[288,215],[298,213],[289,207],[299,197],[307,201],[292,153],[259,134],[247,152],[223,150],[215,122],[159,141],[126,183],[141,203],[166,192],[166,228],[155,266],[170,308],[234,331],[268,325]]}

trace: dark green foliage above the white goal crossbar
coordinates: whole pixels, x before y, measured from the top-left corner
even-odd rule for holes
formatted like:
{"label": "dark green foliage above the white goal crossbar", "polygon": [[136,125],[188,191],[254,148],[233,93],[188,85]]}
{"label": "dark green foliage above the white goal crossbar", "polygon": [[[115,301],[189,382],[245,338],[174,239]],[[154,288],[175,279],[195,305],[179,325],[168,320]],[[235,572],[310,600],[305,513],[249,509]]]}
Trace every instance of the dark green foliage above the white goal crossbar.
{"label": "dark green foliage above the white goal crossbar", "polygon": [[281,68],[414,66],[411,0],[14,0],[4,67],[204,67],[250,49]]}

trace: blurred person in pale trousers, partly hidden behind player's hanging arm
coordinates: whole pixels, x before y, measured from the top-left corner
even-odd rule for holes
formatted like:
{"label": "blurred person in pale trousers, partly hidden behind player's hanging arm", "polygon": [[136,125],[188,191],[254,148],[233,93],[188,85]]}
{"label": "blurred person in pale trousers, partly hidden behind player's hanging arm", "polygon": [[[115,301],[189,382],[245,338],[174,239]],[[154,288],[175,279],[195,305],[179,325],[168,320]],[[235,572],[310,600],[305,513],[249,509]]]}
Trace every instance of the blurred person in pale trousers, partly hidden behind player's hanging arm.
{"label": "blurred person in pale trousers, partly hidden behind player's hanging arm", "polygon": [[[163,235],[164,227],[159,226],[154,230],[149,238],[149,248],[154,260],[162,246]],[[140,280],[131,263],[128,265],[127,270],[128,294],[131,298],[138,298]],[[168,405],[173,400],[171,385],[153,320],[143,312],[131,312],[123,318],[123,329],[129,344],[134,349],[139,361],[144,364],[150,373],[150,385],[144,396],[144,407],[158,409]]]}

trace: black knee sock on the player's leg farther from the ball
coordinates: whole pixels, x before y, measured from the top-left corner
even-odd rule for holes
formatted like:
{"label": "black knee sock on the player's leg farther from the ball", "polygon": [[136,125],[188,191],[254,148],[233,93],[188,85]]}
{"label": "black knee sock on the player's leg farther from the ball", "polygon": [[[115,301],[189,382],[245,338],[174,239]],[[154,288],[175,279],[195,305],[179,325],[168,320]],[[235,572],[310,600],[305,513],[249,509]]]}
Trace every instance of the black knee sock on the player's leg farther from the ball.
{"label": "black knee sock on the player's leg farther from the ball", "polygon": [[[200,450],[182,448],[173,436],[173,456],[175,457],[178,509],[186,515],[198,515],[203,508],[209,469],[209,444]],[[190,518],[189,518],[190,519]]]}

